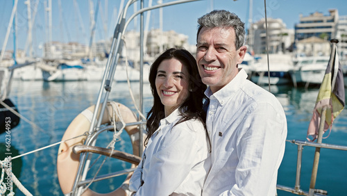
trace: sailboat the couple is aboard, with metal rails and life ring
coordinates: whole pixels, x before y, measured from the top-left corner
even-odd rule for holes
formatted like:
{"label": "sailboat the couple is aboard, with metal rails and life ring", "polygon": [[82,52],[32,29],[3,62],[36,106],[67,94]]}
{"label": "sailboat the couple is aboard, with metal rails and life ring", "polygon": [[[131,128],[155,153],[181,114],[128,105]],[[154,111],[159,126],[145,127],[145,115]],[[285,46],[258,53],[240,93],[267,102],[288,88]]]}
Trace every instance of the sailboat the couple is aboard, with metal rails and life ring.
{"label": "sailboat the couple is aboard, with metal rails and life ring", "polygon": [[[195,0],[190,0],[195,1]],[[139,93],[139,104],[137,109],[137,115],[139,116],[134,117],[133,112],[129,111],[128,108],[125,106],[112,102],[109,99],[110,92],[112,88],[114,88],[113,85],[117,88],[117,83],[112,83],[112,81],[115,81],[115,73],[117,72],[117,63],[119,62],[119,58],[121,56],[121,42],[122,42],[122,35],[124,35],[126,27],[128,26],[129,22],[136,16],[141,15],[147,10],[153,10],[156,8],[161,8],[164,6],[171,6],[178,3],[187,3],[190,2],[189,0],[183,0],[183,1],[173,1],[170,3],[162,3],[160,6],[152,6],[149,8],[142,8],[141,10],[137,11],[137,13],[134,13],[131,15],[128,19],[126,19],[126,13],[128,7],[133,3],[134,1],[128,1],[126,4],[122,17],[120,17],[119,22],[117,23],[117,28],[115,31],[115,36],[112,41],[112,47],[110,56],[108,58],[108,61],[105,65],[105,72],[103,73],[103,79],[101,81],[101,86],[99,90],[98,100],[96,101],[96,104],[94,106],[90,106],[90,108],[87,108],[83,113],[78,115],[73,122],[71,122],[70,126],[67,128],[66,137],[62,138],[62,142],[60,142],[60,148],[58,150],[58,167],[60,169],[58,170],[69,170],[73,169],[76,172],[76,177],[72,181],[68,179],[64,179],[64,177],[59,177],[60,181],[62,183],[60,184],[61,188],[63,189],[63,193],[66,195],[81,195],[84,188],[86,188],[90,183],[94,181],[101,181],[103,179],[110,179],[112,177],[117,177],[119,175],[128,175],[130,172],[134,170],[134,168],[128,168],[126,170],[121,170],[119,172],[113,172],[110,174],[102,175],[102,176],[95,176],[91,178],[87,178],[87,174],[89,171],[90,165],[93,164],[92,159],[90,159],[90,154],[102,154],[108,157],[113,158],[119,158],[121,160],[127,161],[128,163],[132,163],[134,165],[139,163],[139,154],[127,154],[125,152],[116,151],[114,149],[110,149],[108,147],[96,147],[94,145],[94,141],[97,140],[97,138],[103,134],[106,131],[112,131],[115,133],[115,135],[121,133],[121,131],[125,130],[126,134],[129,135],[131,144],[133,145],[133,149],[136,149],[138,152],[142,152],[142,145],[135,146],[135,141],[139,140],[139,143],[143,143],[143,126],[145,124],[144,117],[142,117],[142,101],[143,101],[143,92],[142,88],[140,88]],[[143,32],[142,32],[143,33]],[[143,41],[143,40],[142,40]],[[141,46],[143,47],[143,45]],[[143,65],[143,56],[140,56],[140,65]],[[144,67],[140,67],[140,71],[144,72]],[[139,81],[140,84],[143,86],[143,74],[139,74]],[[131,97],[132,98],[132,97]],[[121,111],[122,114],[126,115],[123,117],[123,120],[119,117],[119,115],[115,114],[116,111]],[[114,119],[110,119],[108,117],[115,117]],[[139,131],[135,134],[130,132],[131,126],[139,126]],[[332,145],[316,145],[312,142],[300,142],[298,140],[291,140],[289,142],[293,142],[294,144],[298,145],[298,147],[301,147],[301,150],[303,146],[313,146],[313,147],[328,147],[328,148],[335,148],[335,149],[344,149],[346,148],[341,146],[332,146]],[[78,145],[71,145],[78,144]],[[301,151],[302,152],[302,151]],[[299,157],[298,153],[298,157]],[[66,161],[65,158],[72,157],[74,159],[73,164],[70,164],[71,162]],[[64,165],[64,162],[67,163]],[[299,161],[298,161],[299,163]],[[300,174],[301,165],[298,164],[298,173]],[[75,170],[76,169],[76,170]],[[74,176],[74,173],[71,172],[69,175],[66,175],[67,177]],[[300,187],[300,175],[297,176],[296,179],[296,186],[295,188],[290,188],[287,186],[278,186],[279,190],[286,190],[287,192],[294,193],[297,195],[309,195],[309,193],[301,190]],[[90,190],[87,190],[90,191]],[[324,191],[322,191],[324,193]],[[319,195],[318,193],[312,193],[311,195]]]}

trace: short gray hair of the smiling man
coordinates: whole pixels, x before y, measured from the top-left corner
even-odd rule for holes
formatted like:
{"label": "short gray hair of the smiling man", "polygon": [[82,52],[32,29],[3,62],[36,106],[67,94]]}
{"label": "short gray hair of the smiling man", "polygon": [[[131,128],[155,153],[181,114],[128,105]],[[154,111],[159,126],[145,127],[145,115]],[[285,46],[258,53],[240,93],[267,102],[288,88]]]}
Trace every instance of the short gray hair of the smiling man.
{"label": "short gray hair of the smiling man", "polygon": [[[207,28],[232,27],[235,29],[235,48],[239,49],[244,45],[244,22],[235,13],[226,10],[213,10],[198,18],[198,33],[203,26]],[[196,41],[198,40],[198,33],[196,34]]]}

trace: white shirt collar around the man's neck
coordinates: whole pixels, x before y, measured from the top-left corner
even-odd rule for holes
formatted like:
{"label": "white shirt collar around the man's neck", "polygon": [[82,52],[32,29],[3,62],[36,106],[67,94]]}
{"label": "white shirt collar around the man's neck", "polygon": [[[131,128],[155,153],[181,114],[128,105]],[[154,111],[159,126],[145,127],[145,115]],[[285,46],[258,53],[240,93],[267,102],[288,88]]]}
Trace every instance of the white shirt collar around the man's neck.
{"label": "white shirt collar around the man's neck", "polygon": [[244,81],[247,79],[247,73],[244,69],[239,70],[239,73],[232,79],[227,85],[225,85],[221,90],[212,93],[210,87],[205,90],[205,95],[209,99],[217,99],[219,104],[223,106],[230,97],[235,95],[235,92],[242,86]]}

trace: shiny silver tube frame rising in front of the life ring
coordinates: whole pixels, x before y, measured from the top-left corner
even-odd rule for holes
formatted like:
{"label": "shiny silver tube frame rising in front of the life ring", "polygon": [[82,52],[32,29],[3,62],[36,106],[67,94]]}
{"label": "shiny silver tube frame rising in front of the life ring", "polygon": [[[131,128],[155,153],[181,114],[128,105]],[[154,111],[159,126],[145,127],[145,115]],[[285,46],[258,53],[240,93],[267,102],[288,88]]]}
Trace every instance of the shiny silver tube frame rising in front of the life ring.
{"label": "shiny silver tube frame rising in front of the life ring", "polygon": [[[117,22],[116,28],[115,28],[115,33],[113,35],[112,38],[112,44],[111,44],[111,49],[110,49],[110,54],[108,56],[108,60],[105,66],[105,72],[103,74],[103,80],[101,82],[101,87],[99,90],[99,96],[97,98],[96,101],[96,105],[95,105],[95,110],[94,110],[94,114],[93,114],[93,118],[92,118],[92,122],[90,124],[90,130],[89,130],[89,135],[87,136],[87,139],[85,140],[85,144],[87,145],[95,145],[95,139],[96,136],[93,136],[94,134],[99,135],[99,127],[101,127],[101,121],[103,119],[103,113],[105,111],[105,106],[107,104],[103,104],[103,103],[107,103],[108,102],[108,97],[110,95],[110,91],[112,90],[112,81],[114,79],[115,76],[115,70],[117,67],[117,62],[119,61],[119,56],[121,55],[121,50],[122,47],[124,45],[123,43],[123,36],[124,33],[126,31],[126,28],[128,26],[128,24],[131,22],[131,20],[133,20],[137,15],[141,15],[141,19],[140,19],[140,79],[139,79],[139,85],[140,85],[140,89],[139,89],[139,99],[141,101],[139,101],[139,108],[140,108],[140,112],[142,113],[143,110],[143,106],[142,106],[142,99],[143,99],[143,51],[144,51],[144,25],[143,25],[143,13],[149,10],[153,10],[153,9],[157,9],[157,8],[163,8],[166,6],[173,6],[176,4],[180,4],[180,3],[188,3],[188,2],[192,2],[192,1],[201,1],[201,0],[179,0],[179,1],[172,1],[172,2],[168,2],[168,3],[162,3],[156,6],[151,6],[148,8],[143,8],[143,1],[144,0],[139,0],[141,1],[141,9],[138,10],[136,13],[134,13],[133,15],[131,15],[128,19],[126,19],[126,14],[128,11],[128,8],[130,7],[130,5],[132,5],[133,3],[135,3],[135,1],[138,0],[129,0],[126,3],[126,6],[124,6],[124,8],[121,10],[121,15],[119,17],[119,20]],[[99,108],[101,108],[101,110],[99,110]],[[98,111],[100,111],[100,116],[98,119]],[[143,121],[141,119],[139,119],[139,124],[143,124]],[[107,128],[106,128],[107,129]],[[142,144],[143,143],[143,138],[141,137],[143,134],[143,127],[139,126],[139,143]],[[139,152],[141,153],[143,151],[143,147],[142,145],[139,145]],[[80,158],[80,163],[78,165],[78,171],[77,171],[77,175],[76,175],[76,179],[74,181],[74,185],[72,188],[72,191],[70,193],[70,195],[81,195],[81,192],[83,190],[83,186],[90,181],[90,179],[85,180],[85,177],[87,176],[87,171],[88,168],[90,166],[90,157],[88,156],[89,153],[81,153],[81,158]],[[140,154],[141,156],[141,154]],[[127,172],[131,172],[131,170],[127,170]],[[126,174],[126,173],[124,173]],[[118,174],[117,174],[118,175]],[[113,174],[108,174],[108,177],[112,177]],[[107,177],[107,178],[108,178]],[[101,179],[105,179],[105,176],[103,177],[96,177],[96,179],[101,180]]]}

